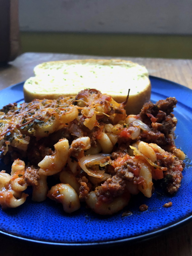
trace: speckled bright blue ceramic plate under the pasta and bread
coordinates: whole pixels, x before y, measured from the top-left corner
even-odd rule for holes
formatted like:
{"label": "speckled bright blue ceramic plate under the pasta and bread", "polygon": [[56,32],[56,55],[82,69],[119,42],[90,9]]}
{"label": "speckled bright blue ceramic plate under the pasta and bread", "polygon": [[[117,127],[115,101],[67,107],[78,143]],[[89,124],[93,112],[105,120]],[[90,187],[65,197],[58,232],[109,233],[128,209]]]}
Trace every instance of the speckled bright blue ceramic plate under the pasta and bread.
{"label": "speckled bright blue ceramic plate under the pasta and bread", "polygon": [[[26,203],[16,209],[0,210],[0,233],[42,244],[55,245],[100,245],[146,239],[176,227],[192,218],[192,91],[168,80],[150,77],[151,100],[174,96],[178,100],[174,114],[178,119],[176,146],[187,154],[181,188],[174,196],[155,191],[151,198],[137,195],[121,212],[112,216],[98,216],[85,205],[72,213],[63,212],[62,205],[47,199],[42,203]],[[10,102],[23,101],[23,83],[13,85],[0,92],[0,108]],[[0,169],[9,169],[0,163]],[[159,193],[160,192],[160,193]],[[29,189],[28,194],[31,194]],[[172,207],[163,205],[172,202]],[[141,204],[148,211],[140,212]],[[131,216],[122,217],[125,211]]]}

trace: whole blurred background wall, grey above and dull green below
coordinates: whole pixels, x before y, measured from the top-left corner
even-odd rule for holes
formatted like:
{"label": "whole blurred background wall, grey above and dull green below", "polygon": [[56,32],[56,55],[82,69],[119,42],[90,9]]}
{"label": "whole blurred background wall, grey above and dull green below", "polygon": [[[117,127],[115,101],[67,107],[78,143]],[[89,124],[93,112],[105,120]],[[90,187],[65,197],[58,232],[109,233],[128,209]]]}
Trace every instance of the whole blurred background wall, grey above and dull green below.
{"label": "whole blurred background wall, grey above and dull green below", "polygon": [[23,52],[192,58],[191,0],[19,0]]}

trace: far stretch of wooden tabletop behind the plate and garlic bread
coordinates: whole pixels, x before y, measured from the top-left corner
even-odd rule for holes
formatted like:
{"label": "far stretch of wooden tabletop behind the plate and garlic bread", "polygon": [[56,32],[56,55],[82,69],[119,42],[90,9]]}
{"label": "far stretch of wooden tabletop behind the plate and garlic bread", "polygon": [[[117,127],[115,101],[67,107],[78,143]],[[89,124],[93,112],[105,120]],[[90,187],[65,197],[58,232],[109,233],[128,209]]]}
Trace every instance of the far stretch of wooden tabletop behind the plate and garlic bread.
{"label": "far stretch of wooden tabletop behind the plate and garlic bread", "polygon": [[[33,68],[42,62],[51,60],[75,60],[75,59],[111,59],[109,56],[89,56],[59,53],[33,53],[28,52],[20,55],[16,60],[7,66],[0,68],[0,90],[9,85],[20,83],[34,76]],[[119,57],[124,60],[131,60],[146,66],[149,74],[172,80],[192,89],[192,60],[174,59],[153,59],[153,58],[129,58]],[[118,58],[116,58],[118,59]]]}

